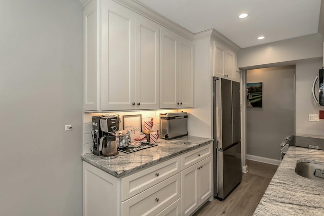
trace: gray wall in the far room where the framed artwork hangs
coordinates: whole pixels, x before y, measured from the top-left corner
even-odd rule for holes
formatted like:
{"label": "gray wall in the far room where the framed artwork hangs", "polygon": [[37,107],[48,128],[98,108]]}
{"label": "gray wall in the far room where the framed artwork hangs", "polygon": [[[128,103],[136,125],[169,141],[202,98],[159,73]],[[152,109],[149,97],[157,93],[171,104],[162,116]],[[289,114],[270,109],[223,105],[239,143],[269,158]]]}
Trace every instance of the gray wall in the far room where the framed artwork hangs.
{"label": "gray wall in the far room where the framed artwork hangs", "polygon": [[247,83],[263,82],[262,108],[247,108],[247,154],[280,159],[279,144],[294,134],[295,66],[247,71]]}

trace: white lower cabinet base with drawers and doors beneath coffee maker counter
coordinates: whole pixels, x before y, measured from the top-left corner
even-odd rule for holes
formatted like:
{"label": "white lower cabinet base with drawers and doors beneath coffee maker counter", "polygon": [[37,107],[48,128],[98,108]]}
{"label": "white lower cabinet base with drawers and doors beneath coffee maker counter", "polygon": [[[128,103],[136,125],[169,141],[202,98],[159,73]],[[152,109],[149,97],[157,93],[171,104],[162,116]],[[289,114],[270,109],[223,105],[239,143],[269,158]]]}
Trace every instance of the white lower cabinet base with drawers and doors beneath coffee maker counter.
{"label": "white lower cabinet base with drawers and doors beneath coffee maker counter", "polygon": [[83,161],[83,216],[189,215],[213,196],[212,144],[116,178]]}

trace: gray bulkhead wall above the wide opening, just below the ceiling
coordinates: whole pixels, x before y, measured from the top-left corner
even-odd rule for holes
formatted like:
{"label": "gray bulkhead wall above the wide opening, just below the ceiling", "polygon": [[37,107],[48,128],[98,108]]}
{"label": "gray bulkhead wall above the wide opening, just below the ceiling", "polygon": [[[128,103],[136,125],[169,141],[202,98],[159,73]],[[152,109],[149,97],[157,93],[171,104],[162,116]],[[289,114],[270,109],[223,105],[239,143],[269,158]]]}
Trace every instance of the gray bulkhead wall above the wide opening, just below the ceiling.
{"label": "gray bulkhead wall above the wide opening, just below the ceiling", "polygon": [[322,36],[310,34],[241,49],[237,54],[237,67],[255,69],[280,64],[295,65],[299,60],[319,60],[322,55]]}

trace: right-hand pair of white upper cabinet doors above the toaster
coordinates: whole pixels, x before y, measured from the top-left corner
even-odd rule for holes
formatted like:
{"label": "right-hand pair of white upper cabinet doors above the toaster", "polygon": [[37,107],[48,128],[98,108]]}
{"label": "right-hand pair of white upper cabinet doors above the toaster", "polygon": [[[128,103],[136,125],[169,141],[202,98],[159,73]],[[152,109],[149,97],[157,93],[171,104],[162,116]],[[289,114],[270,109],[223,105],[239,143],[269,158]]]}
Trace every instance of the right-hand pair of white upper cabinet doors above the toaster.
{"label": "right-hand pair of white upper cabinet doors above the toaster", "polygon": [[161,28],[160,49],[160,108],[193,107],[192,41]]}

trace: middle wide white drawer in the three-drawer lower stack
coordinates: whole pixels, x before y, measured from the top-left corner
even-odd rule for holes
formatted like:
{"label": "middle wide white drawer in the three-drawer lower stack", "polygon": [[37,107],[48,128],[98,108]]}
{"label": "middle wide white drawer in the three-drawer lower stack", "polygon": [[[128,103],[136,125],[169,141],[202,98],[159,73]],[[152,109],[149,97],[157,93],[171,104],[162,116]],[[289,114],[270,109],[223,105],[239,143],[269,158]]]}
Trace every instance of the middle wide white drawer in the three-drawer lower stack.
{"label": "middle wide white drawer in the three-drawer lower stack", "polygon": [[180,173],[121,202],[121,215],[156,215],[181,197]]}

